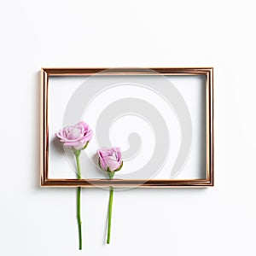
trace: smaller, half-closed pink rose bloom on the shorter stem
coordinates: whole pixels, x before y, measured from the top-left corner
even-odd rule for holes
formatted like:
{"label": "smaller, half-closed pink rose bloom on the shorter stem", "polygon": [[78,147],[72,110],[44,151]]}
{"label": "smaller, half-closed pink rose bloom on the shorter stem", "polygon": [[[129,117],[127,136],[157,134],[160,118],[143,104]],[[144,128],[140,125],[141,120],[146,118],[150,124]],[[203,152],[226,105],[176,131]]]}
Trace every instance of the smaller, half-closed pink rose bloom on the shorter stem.
{"label": "smaller, half-closed pink rose bloom on the shorter stem", "polygon": [[101,148],[98,155],[100,167],[104,171],[116,172],[123,165],[120,148]]}

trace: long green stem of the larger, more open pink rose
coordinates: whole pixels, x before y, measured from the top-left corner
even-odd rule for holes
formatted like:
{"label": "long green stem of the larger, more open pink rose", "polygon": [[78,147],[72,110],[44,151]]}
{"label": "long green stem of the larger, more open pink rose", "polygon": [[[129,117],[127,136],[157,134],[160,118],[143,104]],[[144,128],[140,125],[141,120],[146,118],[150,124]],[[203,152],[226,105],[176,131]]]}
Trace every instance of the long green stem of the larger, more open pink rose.
{"label": "long green stem of the larger, more open pink rose", "polygon": [[[79,155],[81,151],[76,150],[74,154],[76,156],[77,161],[77,170],[78,170],[78,179],[81,179],[81,169],[80,169],[80,160]],[[81,221],[81,187],[77,189],[77,218],[79,224],[79,250],[82,250],[82,221]]]}

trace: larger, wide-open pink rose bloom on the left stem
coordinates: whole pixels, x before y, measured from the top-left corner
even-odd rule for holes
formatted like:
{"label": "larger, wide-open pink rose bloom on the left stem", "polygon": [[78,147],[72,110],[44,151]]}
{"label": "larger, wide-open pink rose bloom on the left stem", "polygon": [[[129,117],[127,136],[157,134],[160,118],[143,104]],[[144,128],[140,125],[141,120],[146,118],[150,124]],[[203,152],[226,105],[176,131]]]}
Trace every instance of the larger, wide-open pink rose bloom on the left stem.
{"label": "larger, wide-open pink rose bloom on the left stem", "polygon": [[81,150],[86,148],[87,143],[93,136],[93,132],[89,125],[81,121],[77,125],[63,128],[55,135],[60,139],[61,143],[63,143],[65,147]]}

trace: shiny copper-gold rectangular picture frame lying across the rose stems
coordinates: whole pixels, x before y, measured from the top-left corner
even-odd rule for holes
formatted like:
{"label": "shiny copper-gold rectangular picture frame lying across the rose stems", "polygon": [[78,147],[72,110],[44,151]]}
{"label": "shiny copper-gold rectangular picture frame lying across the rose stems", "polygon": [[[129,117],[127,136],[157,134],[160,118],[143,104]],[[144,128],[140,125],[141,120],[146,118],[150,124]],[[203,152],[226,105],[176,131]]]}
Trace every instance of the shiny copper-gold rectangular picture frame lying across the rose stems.
{"label": "shiny copper-gold rectangular picture frame lying across the rose stems", "polygon": [[[189,179],[76,179],[49,177],[49,79],[51,77],[108,76],[203,76],[205,78],[205,141],[206,167],[204,178]],[[40,183],[43,187],[141,187],[192,188],[213,186],[213,68],[212,67],[151,67],[151,68],[42,68],[40,124]],[[61,128],[61,127],[60,127]]]}

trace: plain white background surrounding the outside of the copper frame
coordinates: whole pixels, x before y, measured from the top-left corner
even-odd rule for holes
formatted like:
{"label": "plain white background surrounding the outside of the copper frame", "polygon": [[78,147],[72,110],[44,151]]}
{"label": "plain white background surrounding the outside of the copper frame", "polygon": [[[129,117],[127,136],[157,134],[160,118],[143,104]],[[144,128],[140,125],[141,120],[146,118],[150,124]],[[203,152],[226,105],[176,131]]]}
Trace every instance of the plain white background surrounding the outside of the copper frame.
{"label": "plain white background surrounding the outside of the copper frame", "polygon": [[[254,255],[253,1],[2,1],[0,254]],[[215,67],[211,189],[39,187],[40,67]]]}

